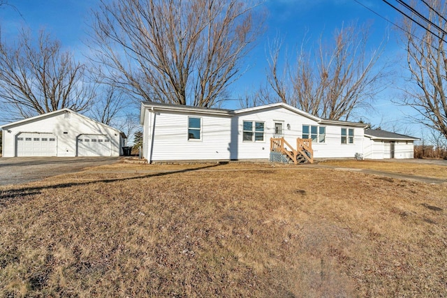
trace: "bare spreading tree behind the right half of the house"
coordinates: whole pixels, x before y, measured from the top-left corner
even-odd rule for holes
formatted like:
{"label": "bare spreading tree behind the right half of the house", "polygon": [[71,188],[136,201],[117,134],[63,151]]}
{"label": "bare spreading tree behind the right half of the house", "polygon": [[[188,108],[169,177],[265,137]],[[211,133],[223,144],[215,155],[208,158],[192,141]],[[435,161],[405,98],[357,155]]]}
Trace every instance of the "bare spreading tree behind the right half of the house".
{"label": "bare spreading tree behind the right half of the house", "polygon": [[[384,89],[388,66],[378,65],[383,45],[368,51],[368,27],[350,27],[335,31],[334,41],[318,49],[305,50],[302,43],[295,64],[286,57],[279,67],[281,43],[269,52],[268,82],[284,103],[318,117],[347,120],[353,111],[369,107],[369,102]],[[270,98],[274,100],[274,98]]]}

